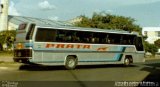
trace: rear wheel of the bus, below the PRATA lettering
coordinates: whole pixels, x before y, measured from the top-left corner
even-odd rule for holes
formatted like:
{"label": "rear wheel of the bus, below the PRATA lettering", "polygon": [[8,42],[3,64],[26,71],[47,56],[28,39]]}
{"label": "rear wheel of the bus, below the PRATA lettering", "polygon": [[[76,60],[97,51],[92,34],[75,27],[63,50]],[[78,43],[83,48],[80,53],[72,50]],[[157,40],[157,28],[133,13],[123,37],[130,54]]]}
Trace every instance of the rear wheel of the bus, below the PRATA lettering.
{"label": "rear wheel of the bus, below the PRATA lettering", "polygon": [[78,62],[77,58],[75,58],[74,56],[68,56],[65,61],[66,69],[69,70],[75,69],[77,62]]}

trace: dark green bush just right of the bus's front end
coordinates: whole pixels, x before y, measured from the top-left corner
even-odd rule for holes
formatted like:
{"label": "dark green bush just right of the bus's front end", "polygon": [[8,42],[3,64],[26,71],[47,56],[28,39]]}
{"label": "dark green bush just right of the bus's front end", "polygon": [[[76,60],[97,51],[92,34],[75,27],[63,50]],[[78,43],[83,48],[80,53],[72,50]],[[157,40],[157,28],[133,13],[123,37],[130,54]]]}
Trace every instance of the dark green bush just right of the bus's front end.
{"label": "dark green bush just right of the bus's front end", "polygon": [[144,41],[144,47],[146,52],[150,52],[152,55],[155,55],[158,52],[158,47],[154,44],[149,44],[148,42]]}

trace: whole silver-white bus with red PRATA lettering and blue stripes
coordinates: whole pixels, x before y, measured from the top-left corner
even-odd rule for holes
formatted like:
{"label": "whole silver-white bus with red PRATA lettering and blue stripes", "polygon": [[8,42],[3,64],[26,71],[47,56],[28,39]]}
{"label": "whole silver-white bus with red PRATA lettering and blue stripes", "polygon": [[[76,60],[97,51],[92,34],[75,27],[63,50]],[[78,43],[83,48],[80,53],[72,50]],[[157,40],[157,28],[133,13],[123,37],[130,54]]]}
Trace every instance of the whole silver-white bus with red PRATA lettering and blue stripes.
{"label": "whole silver-white bus with red PRATA lettering and blue stripes", "polygon": [[127,31],[20,24],[14,61],[43,65],[124,64],[144,62],[142,38]]}

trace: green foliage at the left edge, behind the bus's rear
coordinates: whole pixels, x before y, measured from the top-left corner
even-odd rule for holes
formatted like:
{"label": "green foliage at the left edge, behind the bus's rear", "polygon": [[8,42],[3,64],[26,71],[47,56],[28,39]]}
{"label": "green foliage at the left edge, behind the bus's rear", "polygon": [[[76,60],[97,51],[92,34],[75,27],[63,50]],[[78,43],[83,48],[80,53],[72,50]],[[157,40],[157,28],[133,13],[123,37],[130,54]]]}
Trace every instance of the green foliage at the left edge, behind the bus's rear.
{"label": "green foliage at the left edge, behind the bus's rear", "polygon": [[3,50],[3,44],[7,44],[8,48],[11,48],[16,36],[16,31],[2,31],[0,32],[0,50]]}

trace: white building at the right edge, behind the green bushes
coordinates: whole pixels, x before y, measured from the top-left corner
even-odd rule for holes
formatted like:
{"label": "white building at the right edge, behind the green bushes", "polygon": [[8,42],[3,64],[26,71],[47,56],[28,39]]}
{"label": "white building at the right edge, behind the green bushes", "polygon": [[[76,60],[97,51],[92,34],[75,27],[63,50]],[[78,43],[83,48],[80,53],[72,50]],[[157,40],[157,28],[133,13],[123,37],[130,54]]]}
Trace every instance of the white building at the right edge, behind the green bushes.
{"label": "white building at the right edge, behind the green bushes", "polygon": [[143,27],[142,35],[147,36],[147,42],[154,44],[154,41],[160,39],[160,27]]}

